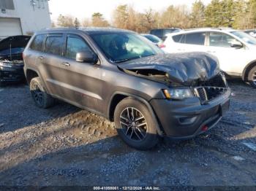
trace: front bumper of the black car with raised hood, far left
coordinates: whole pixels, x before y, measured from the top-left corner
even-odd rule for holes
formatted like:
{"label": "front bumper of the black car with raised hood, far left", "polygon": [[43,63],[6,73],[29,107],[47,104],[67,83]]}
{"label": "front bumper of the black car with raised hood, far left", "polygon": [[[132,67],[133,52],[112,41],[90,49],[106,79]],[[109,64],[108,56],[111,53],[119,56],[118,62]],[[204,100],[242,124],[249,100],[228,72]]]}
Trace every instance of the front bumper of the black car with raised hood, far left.
{"label": "front bumper of the black car with raised hood, far left", "polygon": [[23,66],[0,66],[0,82],[7,84],[25,80]]}

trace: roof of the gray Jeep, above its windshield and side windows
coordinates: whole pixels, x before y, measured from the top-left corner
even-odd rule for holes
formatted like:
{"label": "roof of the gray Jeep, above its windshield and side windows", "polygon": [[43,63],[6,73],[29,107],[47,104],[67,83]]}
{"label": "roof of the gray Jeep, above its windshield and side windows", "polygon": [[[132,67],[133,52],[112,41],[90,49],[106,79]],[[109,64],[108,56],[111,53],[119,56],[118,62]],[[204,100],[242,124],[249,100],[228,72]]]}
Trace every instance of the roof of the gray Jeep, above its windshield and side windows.
{"label": "roof of the gray Jeep, above its windshield and side windows", "polygon": [[120,28],[100,28],[100,27],[88,27],[88,28],[75,28],[75,27],[64,27],[64,28],[47,28],[40,32],[56,32],[56,31],[83,31],[86,34],[97,34],[97,33],[112,33],[112,32],[129,32],[134,33],[134,31],[128,31]]}

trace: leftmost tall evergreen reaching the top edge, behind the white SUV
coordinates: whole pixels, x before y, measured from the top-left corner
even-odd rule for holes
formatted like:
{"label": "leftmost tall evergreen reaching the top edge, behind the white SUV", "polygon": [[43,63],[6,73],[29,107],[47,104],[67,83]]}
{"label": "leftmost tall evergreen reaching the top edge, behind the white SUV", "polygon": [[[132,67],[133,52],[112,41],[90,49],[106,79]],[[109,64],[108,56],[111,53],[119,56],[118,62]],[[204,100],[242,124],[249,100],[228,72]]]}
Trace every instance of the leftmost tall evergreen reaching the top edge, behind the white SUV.
{"label": "leftmost tall evergreen reaching the top edge, behind the white SUV", "polygon": [[203,27],[206,17],[205,17],[205,6],[201,0],[195,1],[192,4],[192,12],[190,14],[191,25],[194,28]]}

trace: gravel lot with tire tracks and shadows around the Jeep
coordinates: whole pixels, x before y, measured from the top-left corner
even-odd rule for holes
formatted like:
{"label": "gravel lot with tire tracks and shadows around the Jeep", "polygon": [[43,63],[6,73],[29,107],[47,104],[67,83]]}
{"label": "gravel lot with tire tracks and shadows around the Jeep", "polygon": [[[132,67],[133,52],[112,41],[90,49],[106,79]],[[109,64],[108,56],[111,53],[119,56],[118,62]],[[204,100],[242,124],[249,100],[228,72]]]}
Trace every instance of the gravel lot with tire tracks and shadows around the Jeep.
{"label": "gravel lot with tire tracks and shadows around the Jeep", "polygon": [[230,81],[230,112],[189,141],[127,147],[113,123],[60,102],[38,109],[26,85],[0,88],[0,186],[256,185],[256,90]]}

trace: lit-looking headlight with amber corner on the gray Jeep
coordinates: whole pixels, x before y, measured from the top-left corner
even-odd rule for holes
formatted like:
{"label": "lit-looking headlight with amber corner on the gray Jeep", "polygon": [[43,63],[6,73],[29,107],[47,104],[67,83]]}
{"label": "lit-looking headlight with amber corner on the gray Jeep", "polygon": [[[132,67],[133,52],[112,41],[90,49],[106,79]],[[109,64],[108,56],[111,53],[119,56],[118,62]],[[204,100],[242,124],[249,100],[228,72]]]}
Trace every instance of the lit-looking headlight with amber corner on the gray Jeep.
{"label": "lit-looking headlight with amber corner on the gray Jeep", "polygon": [[189,88],[173,88],[170,90],[163,90],[165,94],[165,98],[167,99],[184,99],[184,98],[192,98],[194,94]]}

